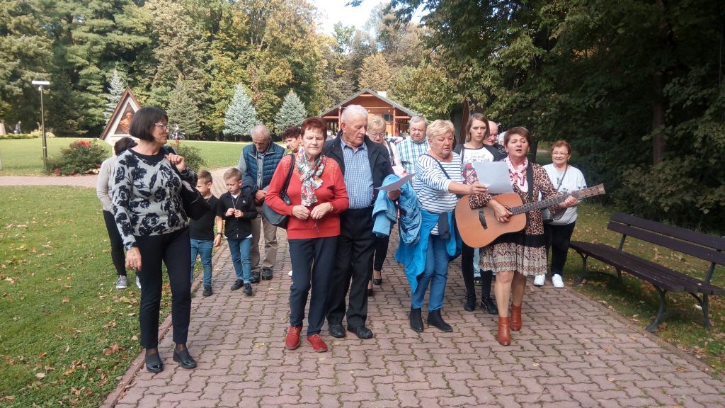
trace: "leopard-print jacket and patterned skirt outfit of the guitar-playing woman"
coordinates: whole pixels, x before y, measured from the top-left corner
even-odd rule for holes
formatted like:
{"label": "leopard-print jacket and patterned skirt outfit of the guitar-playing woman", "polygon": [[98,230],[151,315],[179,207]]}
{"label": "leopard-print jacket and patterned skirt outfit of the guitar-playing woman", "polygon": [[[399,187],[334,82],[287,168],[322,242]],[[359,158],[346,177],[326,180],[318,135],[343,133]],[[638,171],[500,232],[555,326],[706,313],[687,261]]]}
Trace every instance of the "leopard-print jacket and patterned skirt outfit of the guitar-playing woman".
{"label": "leopard-print jacket and patterned skirt outfit of the guitar-playing woman", "polygon": [[[560,195],[551,183],[549,176],[542,166],[531,163],[534,173],[533,201],[539,201],[539,193],[543,199]],[[529,192],[522,192],[518,185],[513,185],[513,191],[521,196],[524,204],[530,203]],[[471,208],[481,208],[489,203],[492,196],[489,194],[471,195]],[[558,205],[549,208],[552,214],[560,216],[563,212]],[[494,272],[515,271],[523,275],[546,274],[546,248],[544,248],[544,224],[540,210],[526,213],[526,228],[521,232],[511,232],[498,237],[490,245],[481,248],[481,261],[479,266],[484,271]]]}

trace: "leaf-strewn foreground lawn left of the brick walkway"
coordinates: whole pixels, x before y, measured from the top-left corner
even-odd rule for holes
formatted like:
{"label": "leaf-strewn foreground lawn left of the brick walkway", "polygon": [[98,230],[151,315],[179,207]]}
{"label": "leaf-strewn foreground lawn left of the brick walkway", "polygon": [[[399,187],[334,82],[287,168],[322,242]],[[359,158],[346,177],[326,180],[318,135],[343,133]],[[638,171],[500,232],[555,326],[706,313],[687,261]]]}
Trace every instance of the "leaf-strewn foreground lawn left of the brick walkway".
{"label": "leaf-strewn foreground lawn left of the brick walkway", "polygon": [[93,189],[0,197],[0,406],[97,407],[141,351],[135,275],[115,289]]}

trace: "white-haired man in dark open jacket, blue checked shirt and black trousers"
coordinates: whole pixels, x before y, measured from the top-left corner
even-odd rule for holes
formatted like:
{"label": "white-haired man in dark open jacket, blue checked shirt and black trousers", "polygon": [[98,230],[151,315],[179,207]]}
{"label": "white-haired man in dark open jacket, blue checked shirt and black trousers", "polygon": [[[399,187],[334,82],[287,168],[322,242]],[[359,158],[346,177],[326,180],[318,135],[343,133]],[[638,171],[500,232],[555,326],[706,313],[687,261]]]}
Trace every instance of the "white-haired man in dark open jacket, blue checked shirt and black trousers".
{"label": "white-haired man in dark open jacket, blue checked shirt and black trousers", "polygon": [[[345,179],[349,208],[340,214],[340,237],[337,245],[335,273],[330,282],[327,322],[330,334],[345,337],[342,318],[345,316],[345,296],[349,290],[347,330],[358,338],[372,338],[365,327],[368,319],[368,280],[373,274],[373,253],[376,238],[373,234],[373,203],[383,180],[393,174],[388,152],[381,144],[370,140],[368,110],[349,105],[340,118],[341,134],[325,145],[324,153],[340,165]],[[396,193],[389,193],[392,200]]]}

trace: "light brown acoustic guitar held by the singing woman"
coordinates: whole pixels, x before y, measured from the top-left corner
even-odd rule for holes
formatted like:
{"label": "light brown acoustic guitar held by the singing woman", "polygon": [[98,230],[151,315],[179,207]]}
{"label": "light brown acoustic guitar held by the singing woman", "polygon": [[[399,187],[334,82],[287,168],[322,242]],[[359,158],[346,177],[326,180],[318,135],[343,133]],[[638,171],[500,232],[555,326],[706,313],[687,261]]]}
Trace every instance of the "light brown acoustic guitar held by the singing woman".
{"label": "light brown acoustic guitar held by the singing woman", "polygon": [[463,238],[465,245],[471,248],[481,248],[489,245],[493,240],[502,234],[509,232],[521,231],[526,227],[526,213],[529,211],[547,208],[550,205],[563,203],[569,195],[573,195],[578,200],[595,197],[596,195],[605,194],[604,184],[581,189],[571,192],[568,195],[560,195],[547,200],[535,201],[534,203],[524,204],[521,196],[515,192],[507,192],[493,197],[498,203],[508,208],[513,215],[509,217],[508,222],[500,222],[496,219],[494,211],[488,206],[471,210],[471,196],[466,195],[458,200],[455,206],[455,221]]}

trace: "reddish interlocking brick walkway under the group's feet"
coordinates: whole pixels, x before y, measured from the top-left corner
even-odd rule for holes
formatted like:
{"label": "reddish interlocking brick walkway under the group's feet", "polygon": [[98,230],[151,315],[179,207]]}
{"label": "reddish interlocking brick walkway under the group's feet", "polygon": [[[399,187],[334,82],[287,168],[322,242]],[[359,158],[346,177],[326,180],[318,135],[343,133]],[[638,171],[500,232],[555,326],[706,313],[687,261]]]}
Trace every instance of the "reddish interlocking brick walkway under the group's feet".
{"label": "reddish interlocking brick walkway under the group's feet", "polygon": [[253,297],[229,290],[225,248],[215,259],[214,295],[202,297],[197,280],[188,343],[196,370],[173,362],[166,335],[164,372],[146,372],[138,356],[104,407],[725,406],[725,385],[707,367],[573,290],[529,285],[523,330],[500,346],[495,317],[463,311],[460,261],[451,264],[444,304],[453,332],[410,330],[410,289],[389,257],[370,299],[373,339],[335,339],[324,327],[327,353],[314,353],[304,338],[288,351],[290,260],[279,235],[279,267]]}

